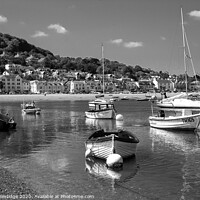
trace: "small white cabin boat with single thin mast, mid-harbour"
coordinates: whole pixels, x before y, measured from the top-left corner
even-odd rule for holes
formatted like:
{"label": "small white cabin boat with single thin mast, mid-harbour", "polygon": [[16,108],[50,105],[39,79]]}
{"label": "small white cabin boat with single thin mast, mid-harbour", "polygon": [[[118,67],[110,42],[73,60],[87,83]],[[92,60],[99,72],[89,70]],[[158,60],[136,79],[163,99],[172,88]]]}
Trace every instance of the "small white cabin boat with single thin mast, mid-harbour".
{"label": "small white cabin boat with single thin mast, mid-harbour", "polygon": [[85,112],[85,116],[91,119],[115,119],[116,109],[111,100],[104,98],[104,57],[103,44],[101,45],[102,68],[103,68],[103,94],[98,95],[94,101],[89,102],[89,110]]}

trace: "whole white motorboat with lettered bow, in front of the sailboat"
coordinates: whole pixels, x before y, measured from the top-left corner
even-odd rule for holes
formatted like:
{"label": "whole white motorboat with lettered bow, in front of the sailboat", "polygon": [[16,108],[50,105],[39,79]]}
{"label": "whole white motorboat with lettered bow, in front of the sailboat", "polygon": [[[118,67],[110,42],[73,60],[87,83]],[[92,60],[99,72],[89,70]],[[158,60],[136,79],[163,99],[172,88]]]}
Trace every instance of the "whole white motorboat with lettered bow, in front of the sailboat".
{"label": "whole white motorboat with lettered bow, in front of the sailboat", "polygon": [[160,110],[159,115],[149,117],[149,124],[153,128],[195,130],[200,123],[200,113],[192,114],[191,110]]}

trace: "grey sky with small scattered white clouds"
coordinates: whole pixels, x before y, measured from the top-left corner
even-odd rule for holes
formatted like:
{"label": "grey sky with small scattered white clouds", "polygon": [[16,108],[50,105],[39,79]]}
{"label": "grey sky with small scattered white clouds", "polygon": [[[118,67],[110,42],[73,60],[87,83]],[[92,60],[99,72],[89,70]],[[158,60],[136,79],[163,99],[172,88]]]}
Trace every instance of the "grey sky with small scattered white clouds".
{"label": "grey sky with small scattered white clouds", "polygon": [[0,0],[0,32],[62,57],[101,59],[103,43],[111,61],[184,74],[181,8],[200,74],[199,0]]}

